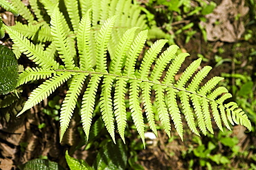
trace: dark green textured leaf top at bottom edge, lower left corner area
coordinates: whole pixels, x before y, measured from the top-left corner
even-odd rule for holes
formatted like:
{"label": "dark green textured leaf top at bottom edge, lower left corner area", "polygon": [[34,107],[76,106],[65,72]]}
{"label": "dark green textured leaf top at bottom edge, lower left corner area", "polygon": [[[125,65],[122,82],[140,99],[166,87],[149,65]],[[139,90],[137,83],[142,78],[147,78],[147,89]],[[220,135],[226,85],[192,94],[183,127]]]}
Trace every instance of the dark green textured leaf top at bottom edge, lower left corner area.
{"label": "dark green textured leaf top at bottom edge, lower left corner area", "polygon": [[35,159],[26,162],[26,164],[22,164],[19,166],[21,170],[64,170],[56,162],[52,162],[50,160],[42,160],[42,159]]}

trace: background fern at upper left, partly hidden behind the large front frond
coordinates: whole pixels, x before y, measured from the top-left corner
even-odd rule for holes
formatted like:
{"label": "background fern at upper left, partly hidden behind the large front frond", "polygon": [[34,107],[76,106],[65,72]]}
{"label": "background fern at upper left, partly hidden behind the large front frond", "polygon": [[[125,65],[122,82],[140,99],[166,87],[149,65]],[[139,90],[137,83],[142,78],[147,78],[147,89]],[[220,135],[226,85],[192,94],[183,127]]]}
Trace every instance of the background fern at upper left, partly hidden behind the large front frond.
{"label": "background fern at upper left, partly hidden behind the large front frond", "polygon": [[[53,9],[58,3],[58,0],[30,0],[30,6],[33,13],[28,9],[24,3],[19,0],[11,0],[12,6],[19,10],[24,19],[28,23],[23,24],[16,22],[16,25],[12,26],[13,30],[23,34],[24,37],[32,39],[38,46],[44,47],[46,42],[52,42],[53,36],[51,34],[50,17],[52,17]],[[42,10],[44,9],[44,10]],[[88,9],[92,11],[92,31],[89,39],[93,45],[95,45],[95,36],[98,34],[100,27],[107,20],[109,16],[118,15],[118,20],[114,24],[114,29],[111,32],[111,43],[108,45],[109,54],[112,57],[113,52],[117,46],[118,40],[122,37],[122,34],[128,28],[140,27],[144,30],[147,25],[145,20],[145,14],[140,14],[141,10],[138,4],[131,3],[129,0],[64,0],[64,3],[60,3],[59,6],[62,14],[63,31],[66,33],[66,41],[70,47],[71,54],[75,54],[75,34],[77,34],[79,21]],[[34,17],[35,15],[35,17]],[[19,47],[15,44],[13,50],[17,58],[21,55]],[[48,55],[54,57],[56,54],[55,43],[47,46],[46,50]],[[95,65],[95,49],[90,48],[90,56],[93,66]],[[75,56],[73,56],[75,57]]]}

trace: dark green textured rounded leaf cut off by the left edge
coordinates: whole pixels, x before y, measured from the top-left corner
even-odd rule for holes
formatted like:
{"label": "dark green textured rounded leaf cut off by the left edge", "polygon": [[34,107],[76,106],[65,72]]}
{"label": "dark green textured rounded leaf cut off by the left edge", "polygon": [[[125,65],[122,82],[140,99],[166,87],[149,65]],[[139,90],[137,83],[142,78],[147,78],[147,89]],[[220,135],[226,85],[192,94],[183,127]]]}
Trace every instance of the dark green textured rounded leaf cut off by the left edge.
{"label": "dark green textured rounded leaf cut off by the left edge", "polygon": [[8,94],[16,87],[18,62],[8,47],[0,46],[0,95]]}

